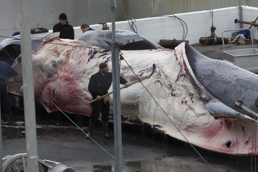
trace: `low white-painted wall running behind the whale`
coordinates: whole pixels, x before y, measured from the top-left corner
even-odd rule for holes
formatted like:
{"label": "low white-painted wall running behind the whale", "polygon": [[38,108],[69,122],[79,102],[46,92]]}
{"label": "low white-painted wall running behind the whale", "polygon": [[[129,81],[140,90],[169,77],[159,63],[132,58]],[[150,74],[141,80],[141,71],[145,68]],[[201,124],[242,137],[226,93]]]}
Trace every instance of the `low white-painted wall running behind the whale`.
{"label": "low white-painted wall running behind the whale", "polygon": [[[244,7],[243,6],[242,16],[243,21],[253,21],[256,19],[258,14],[258,8],[255,7]],[[177,17],[182,19],[188,28],[188,32],[185,40],[189,40],[190,44],[199,43],[200,37],[210,36],[210,26],[212,25],[212,16],[209,10],[200,12],[189,12],[182,14],[175,14]],[[240,24],[234,23],[235,19],[239,19],[238,7],[228,7],[222,9],[213,10],[213,25],[217,28],[215,34],[221,37],[221,33],[224,30],[238,29]],[[110,30],[112,29],[111,23],[107,23]],[[132,24],[132,22],[130,22]],[[152,17],[138,19],[134,22],[137,33],[149,39],[155,44],[159,44],[160,39],[177,40],[183,39],[183,27],[181,22],[174,17]],[[243,24],[244,28],[249,28],[250,25]],[[95,30],[101,30],[102,25],[90,25]],[[186,27],[184,26],[185,31]],[[116,22],[116,30],[129,30],[130,28],[128,21]],[[78,39],[82,35],[80,27],[74,27],[75,39]],[[253,38],[258,39],[257,27],[251,28]],[[51,31],[50,31],[51,33]],[[225,32],[223,37],[231,38],[231,32]]]}

